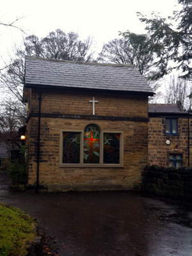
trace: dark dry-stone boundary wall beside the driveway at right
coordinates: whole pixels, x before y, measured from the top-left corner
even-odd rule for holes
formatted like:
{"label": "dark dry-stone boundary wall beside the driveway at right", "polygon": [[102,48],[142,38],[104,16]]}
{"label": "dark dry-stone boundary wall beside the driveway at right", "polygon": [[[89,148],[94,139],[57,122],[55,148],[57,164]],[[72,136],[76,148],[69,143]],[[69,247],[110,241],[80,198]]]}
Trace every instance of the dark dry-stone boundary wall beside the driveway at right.
{"label": "dark dry-stone boundary wall beside the driveway at right", "polygon": [[192,202],[192,168],[146,166],[142,178],[142,189],[145,192]]}

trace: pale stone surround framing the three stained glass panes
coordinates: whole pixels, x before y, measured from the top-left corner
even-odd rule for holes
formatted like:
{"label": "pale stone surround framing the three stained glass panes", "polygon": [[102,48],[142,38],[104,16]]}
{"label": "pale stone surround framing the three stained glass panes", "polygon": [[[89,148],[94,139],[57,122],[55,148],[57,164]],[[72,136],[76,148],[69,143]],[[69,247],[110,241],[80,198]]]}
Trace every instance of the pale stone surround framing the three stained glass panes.
{"label": "pale stone surround framing the three stained glass panes", "polygon": [[[95,124],[89,123],[89,124]],[[88,124],[84,125],[84,128]],[[84,139],[84,129],[61,129],[60,130],[60,167],[95,167],[95,168],[106,168],[106,167],[112,167],[112,168],[123,168],[124,167],[124,132],[117,131],[117,130],[102,130],[100,128],[100,125],[96,124],[100,129],[100,163],[99,164],[86,164],[83,163],[83,139]],[[81,134],[81,148],[80,148],[80,163],[78,164],[65,164],[63,163],[63,132],[79,132]],[[120,134],[120,163],[119,164],[104,164],[103,163],[103,138],[104,133],[118,133]]]}

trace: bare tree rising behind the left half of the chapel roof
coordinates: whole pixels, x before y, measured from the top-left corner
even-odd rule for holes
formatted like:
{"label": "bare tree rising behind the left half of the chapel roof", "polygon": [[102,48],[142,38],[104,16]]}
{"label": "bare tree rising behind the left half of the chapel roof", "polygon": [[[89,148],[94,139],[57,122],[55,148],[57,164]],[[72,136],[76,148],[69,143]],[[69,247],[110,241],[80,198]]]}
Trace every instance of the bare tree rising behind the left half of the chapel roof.
{"label": "bare tree rising behind the left half of the chapel roof", "polygon": [[[28,56],[56,60],[93,61],[92,38],[79,40],[79,35],[72,31],[65,33],[61,29],[56,29],[44,38],[31,35],[24,39],[23,45],[24,53]],[[18,51],[20,49],[17,48]]]}

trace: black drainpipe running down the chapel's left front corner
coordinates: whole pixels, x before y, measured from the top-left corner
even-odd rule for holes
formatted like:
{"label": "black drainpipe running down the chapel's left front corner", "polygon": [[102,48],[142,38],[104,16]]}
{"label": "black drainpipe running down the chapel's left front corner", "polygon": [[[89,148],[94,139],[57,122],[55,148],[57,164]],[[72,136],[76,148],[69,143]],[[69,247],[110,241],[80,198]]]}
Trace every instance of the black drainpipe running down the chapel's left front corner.
{"label": "black drainpipe running down the chapel's left front corner", "polygon": [[41,127],[41,103],[42,93],[39,93],[38,104],[38,139],[37,139],[37,167],[36,167],[36,189],[35,193],[39,193],[39,161],[40,161],[40,127]]}

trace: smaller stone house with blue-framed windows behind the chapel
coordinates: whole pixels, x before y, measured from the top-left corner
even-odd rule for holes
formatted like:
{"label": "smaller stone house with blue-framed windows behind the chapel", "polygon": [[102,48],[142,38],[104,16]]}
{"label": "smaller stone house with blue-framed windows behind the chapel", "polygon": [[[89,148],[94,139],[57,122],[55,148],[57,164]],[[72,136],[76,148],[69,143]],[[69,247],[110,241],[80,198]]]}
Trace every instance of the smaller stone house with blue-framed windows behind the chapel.
{"label": "smaller stone house with blue-framed windows behind the chapel", "polygon": [[148,104],[148,163],[191,165],[191,118],[180,102]]}

